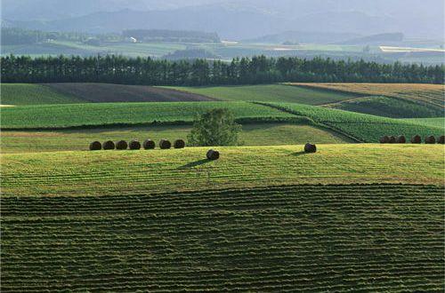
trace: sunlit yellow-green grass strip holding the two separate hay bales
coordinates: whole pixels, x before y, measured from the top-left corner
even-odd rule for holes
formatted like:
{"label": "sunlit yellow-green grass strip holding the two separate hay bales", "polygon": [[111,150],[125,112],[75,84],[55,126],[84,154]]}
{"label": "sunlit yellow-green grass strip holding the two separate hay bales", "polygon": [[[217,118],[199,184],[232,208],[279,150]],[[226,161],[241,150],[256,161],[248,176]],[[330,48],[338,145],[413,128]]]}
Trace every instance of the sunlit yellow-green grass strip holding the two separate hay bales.
{"label": "sunlit yellow-green grass strip holding the two separate hay bales", "polygon": [[443,185],[441,145],[320,145],[2,154],[3,196],[150,194],[298,184]]}

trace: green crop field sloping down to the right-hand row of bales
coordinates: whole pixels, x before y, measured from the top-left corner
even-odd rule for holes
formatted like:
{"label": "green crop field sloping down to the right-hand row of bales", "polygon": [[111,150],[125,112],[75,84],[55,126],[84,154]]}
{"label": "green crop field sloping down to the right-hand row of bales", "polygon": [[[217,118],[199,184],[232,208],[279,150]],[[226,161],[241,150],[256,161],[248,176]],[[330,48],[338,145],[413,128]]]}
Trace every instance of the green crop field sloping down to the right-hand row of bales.
{"label": "green crop field sloping down to the right-hand row of bales", "polygon": [[428,126],[423,123],[365,115],[349,111],[311,107],[293,103],[268,103],[271,107],[285,110],[295,115],[308,117],[332,129],[363,142],[377,142],[384,135],[440,136],[443,127]]}

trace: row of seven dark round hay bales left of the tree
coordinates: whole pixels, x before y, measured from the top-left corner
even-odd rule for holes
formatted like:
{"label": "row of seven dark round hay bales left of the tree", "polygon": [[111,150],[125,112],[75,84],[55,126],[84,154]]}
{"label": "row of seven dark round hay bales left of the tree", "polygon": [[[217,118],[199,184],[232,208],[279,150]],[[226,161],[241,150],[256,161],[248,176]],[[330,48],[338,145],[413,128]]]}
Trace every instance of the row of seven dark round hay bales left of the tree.
{"label": "row of seven dark round hay bales left of the tree", "polygon": [[[139,140],[131,140],[129,143],[127,143],[125,140],[119,140],[117,141],[117,143],[115,143],[112,140],[107,140],[105,141],[103,144],[101,144],[100,141],[93,141],[90,144],[90,151],[100,151],[101,149],[103,150],[113,150],[113,149],[117,149],[117,150],[125,150],[125,149],[130,149],[130,150],[139,150],[141,148],[144,149],[155,149],[156,148],[156,143],[151,140],[151,139],[147,139],[143,142],[143,144],[141,144],[141,142],[139,142]],[[174,148],[184,148],[185,147],[185,141],[182,139],[176,139],[174,141],[173,144]],[[159,141],[159,148],[160,149],[170,149],[172,148],[172,143],[167,140],[167,139],[161,139]]]}

